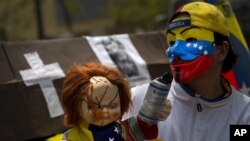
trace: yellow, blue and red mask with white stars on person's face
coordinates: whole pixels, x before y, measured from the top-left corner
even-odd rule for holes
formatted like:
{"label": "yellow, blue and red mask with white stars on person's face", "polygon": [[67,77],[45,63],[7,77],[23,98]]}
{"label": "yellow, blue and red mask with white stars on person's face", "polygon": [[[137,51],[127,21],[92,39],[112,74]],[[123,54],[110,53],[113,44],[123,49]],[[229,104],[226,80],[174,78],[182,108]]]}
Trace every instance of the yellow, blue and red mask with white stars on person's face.
{"label": "yellow, blue and red mask with white stars on person's face", "polygon": [[168,31],[169,48],[166,51],[175,81],[185,83],[212,65],[214,35],[212,31],[184,26]]}

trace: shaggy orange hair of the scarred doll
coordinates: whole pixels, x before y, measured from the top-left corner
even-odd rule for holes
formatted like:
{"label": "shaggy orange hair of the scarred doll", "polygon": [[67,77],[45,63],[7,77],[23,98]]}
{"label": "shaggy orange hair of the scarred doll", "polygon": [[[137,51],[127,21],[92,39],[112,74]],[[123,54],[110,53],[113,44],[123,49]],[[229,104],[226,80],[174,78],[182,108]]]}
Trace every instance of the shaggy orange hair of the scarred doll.
{"label": "shaggy orange hair of the scarred doll", "polygon": [[[64,124],[66,126],[77,125],[82,120],[81,103],[83,102],[84,95],[87,96],[88,103],[93,107],[88,97],[91,85],[90,78],[93,76],[106,77],[111,83],[116,85],[119,89],[121,116],[128,111],[132,103],[130,88],[128,82],[119,71],[99,63],[73,65],[66,74],[61,93],[62,105],[65,110]],[[95,113],[98,116],[98,112]]]}

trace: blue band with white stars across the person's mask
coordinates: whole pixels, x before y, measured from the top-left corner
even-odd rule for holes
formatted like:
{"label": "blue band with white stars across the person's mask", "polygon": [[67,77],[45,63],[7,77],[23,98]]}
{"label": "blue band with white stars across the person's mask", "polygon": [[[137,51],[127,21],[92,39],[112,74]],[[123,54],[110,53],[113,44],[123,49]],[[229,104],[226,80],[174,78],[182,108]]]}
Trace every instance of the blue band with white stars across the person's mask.
{"label": "blue band with white stars across the person's mask", "polygon": [[166,54],[170,59],[170,63],[175,58],[180,58],[184,61],[191,61],[199,56],[213,55],[213,43],[204,40],[186,42],[183,40],[176,40],[173,46],[170,46]]}

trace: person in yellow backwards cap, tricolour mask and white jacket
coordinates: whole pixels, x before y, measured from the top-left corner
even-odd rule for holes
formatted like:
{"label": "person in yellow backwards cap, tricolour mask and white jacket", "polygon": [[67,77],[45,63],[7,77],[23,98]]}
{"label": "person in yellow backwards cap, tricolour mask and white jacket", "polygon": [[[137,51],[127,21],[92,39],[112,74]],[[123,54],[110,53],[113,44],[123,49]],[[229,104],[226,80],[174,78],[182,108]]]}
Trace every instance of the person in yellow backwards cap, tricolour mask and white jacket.
{"label": "person in yellow backwards cap, tricolour mask and white jacket", "polygon": [[[250,98],[223,77],[237,56],[228,40],[223,13],[205,2],[181,6],[167,24],[166,55],[174,77],[167,99],[171,112],[158,123],[164,141],[229,141],[230,125],[250,124]],[[132,88],[138,113],[148,84]]]}

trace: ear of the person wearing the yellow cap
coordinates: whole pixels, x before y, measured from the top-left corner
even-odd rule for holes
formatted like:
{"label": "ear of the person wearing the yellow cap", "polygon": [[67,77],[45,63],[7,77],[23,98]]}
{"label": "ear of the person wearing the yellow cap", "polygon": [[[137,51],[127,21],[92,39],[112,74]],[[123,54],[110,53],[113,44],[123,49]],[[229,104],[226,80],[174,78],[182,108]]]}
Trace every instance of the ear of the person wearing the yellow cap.
{"label": "ear of the person wearing the yellow cap", "polygon": [[229,43],[227,41],[223,41],[221,44],[216,45],[216,56],[219,61],[223,61],[229,50]]}

